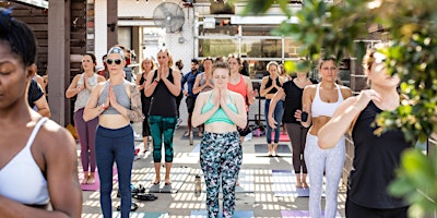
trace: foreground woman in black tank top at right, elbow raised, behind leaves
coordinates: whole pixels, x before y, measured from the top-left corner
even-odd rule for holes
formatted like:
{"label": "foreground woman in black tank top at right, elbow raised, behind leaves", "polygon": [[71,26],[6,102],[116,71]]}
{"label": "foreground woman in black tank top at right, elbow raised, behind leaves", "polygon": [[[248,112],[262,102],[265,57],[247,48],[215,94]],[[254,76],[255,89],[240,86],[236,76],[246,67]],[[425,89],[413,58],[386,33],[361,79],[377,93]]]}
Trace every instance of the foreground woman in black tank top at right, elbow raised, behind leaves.
{"label": "foreground woman in black tank top at right, elbow raised, behind leaves", "polygon": [[387,193],[388,184],[394,179],[394,170],[400,165],[401,153],[411,147],[402,131],[390,130],[381,135],[374,132],[375,118],[380,112],[395,110],[400,105],[397,92],[398,76],[389,76],[386,63],[378,57],[383,55],[369,50],[364,59],[364,68],[370,89],[345,100],[332,119],[319,131],[319,146],[332,147],[345,133],[354,142],[353,170],[349,179],[346,217],[406,218],[409,205],[401,198]]}

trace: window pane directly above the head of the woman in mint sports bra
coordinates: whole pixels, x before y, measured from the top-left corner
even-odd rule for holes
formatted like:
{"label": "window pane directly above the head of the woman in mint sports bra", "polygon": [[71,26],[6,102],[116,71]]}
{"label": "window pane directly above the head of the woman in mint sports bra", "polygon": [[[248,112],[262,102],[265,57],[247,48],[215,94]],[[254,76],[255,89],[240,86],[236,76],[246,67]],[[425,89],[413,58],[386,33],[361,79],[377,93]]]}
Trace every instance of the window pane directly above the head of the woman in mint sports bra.
{"label": "window pane directly above the head of the woman in mint sports bra", "polygon": [[236,39],[199,39],[199,57],[218,57],[238,52]]}

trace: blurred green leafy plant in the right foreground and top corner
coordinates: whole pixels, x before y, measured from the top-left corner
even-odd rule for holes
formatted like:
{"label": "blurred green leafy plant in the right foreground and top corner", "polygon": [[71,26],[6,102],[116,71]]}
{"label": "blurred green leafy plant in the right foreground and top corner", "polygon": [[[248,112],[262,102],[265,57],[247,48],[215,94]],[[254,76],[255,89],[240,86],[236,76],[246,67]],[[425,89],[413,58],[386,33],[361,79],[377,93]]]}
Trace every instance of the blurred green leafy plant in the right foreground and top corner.
{"label": "blurred green leafy plant in the right foreground and top corner", "polygon": [[[437,13],[436,1],[429,0],[303,0],[296,13],[287,9],[288,0],[249,0],[245,14],[262,14],[272,4],[283,13],[297,17],[284,21],[272,34],[291,36],[303,45],[302,57],[312,60],[323,55],[345,55],[361,62],[366,51],[368,25],[385,29],[391,46],[381,50],[391,74],[401,77],[401,106],[381,113],[376,122],[377,134],[392,128],[402,129],[406,140],[415,144],[437,133]],[[308,65],[308,64],[306,64]],[[299,68],[286,63],[287,70]],[[417,150],[402,156],[398,179],[390,185],[397,196],[404,196],[413,208],[437,211],[437,160]]]}

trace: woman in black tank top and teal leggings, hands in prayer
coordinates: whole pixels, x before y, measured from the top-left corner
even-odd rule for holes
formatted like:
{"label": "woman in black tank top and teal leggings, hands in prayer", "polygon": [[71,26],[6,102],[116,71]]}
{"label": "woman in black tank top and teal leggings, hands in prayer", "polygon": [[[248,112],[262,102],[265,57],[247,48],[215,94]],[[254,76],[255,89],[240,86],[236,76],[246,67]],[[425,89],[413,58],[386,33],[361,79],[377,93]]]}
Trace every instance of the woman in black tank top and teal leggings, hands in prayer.
{"label": "woman in black tank top and teal leggings, hands in prayer", "polygon": [[152,97],[149,110],[149,123],[153,137],[153,161],[155,167],[154,184],[161,182],[161,160],[164,138],[165,146],[165,184],[170,185],[173,164],[173,137],[177,121],[176,96],[180,93],[180,72],[173,70],[173,58],[165,48],[157,52],[160,68],[150,73],[145,81],[144,95]]}

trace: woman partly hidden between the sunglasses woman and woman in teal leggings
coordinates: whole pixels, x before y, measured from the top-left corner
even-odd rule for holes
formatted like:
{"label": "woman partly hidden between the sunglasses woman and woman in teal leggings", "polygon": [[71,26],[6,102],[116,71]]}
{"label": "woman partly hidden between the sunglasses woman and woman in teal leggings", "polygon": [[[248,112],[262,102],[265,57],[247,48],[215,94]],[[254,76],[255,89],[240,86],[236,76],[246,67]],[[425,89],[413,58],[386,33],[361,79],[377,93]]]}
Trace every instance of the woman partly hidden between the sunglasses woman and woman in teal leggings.
{"label": "woman partly hidden between the sunglasses woman and woman in teal leggings", "polygon": [[[150,104],[151,104],[151,97],[146,97],[144,95],[144,87],[145,87],[145,78],[147,77],[147,74],[151,73],[153,71],[153,69],[155,69],[155,63],[151,58],[145,58],[142,62],[141,62],[141,70],[142,72],[137,74],[137,80],[135,80],[135,84],[138,89],[141,93],[141,105],[142,105],[142,111],[143,111],[143,116],[144,116],[144,120],[143,120],[143,144],[144,144],[144,153],[147,152],[149,148],[149,140],[151,140],[151,144],[153,145],[153,138],[149,137],[150,134],[150,126],[149,126],[149,108],[150,108]],[[152,72],[153,73],[153,72]]]}

